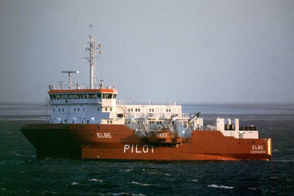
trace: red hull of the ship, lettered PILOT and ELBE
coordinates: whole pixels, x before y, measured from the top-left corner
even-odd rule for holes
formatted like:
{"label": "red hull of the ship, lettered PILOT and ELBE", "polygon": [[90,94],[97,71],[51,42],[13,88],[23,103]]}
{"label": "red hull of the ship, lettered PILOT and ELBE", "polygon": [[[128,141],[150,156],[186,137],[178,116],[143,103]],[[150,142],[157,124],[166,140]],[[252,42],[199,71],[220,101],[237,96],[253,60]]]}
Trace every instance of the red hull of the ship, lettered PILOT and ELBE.
{"label": "red hull of the ship, lettered PILOT and ELBE", "polygon": [[270,160],[271,139],[236,139],[197,130],[177,146],[149,143],[124,125],[28,124],[21,131],[37,157],[117,160]]}

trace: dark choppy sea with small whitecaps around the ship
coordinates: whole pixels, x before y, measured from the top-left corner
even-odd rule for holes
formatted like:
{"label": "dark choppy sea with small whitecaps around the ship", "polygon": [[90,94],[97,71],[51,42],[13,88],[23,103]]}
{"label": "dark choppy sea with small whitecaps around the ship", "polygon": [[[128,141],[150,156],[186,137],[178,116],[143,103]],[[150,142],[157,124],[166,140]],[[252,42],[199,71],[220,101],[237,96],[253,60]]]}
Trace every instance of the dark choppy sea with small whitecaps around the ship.
{"label": "dark choppy sea with small whitecaps around the ship", "polygon": [[[0,103],[0,196],[293,195],[294,103],[182,103],[204,124],[240,118],[272,138],[270,161],[105,162],[36,159],[20,132],[44,103]],[[48,108],[49,110],[50,108]]]}

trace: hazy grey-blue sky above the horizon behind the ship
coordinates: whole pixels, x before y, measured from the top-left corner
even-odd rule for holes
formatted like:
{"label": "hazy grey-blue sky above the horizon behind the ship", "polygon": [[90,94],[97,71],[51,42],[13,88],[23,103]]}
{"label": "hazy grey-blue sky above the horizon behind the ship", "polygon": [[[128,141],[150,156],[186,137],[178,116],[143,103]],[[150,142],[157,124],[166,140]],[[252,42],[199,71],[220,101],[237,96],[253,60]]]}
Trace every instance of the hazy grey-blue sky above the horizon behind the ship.
{"label": "hazy grey-blue sky above the horizon behind the ship", "polygon": [[294,0],[0,0],[0,101],[45,101],[93,24],[118,99],[294,101]]}

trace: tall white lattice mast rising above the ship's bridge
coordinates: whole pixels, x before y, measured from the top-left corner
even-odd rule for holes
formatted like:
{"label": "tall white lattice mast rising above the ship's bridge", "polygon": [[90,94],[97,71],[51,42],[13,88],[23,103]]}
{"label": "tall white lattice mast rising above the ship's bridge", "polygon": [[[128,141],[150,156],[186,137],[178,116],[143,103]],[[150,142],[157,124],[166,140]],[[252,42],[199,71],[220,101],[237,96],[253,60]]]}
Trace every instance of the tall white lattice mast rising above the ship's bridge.
{"label": "tall white lattice mast rising above the ship's bridge", "polygon": [[[96,49],[101,49],[101,45],[100,45],[100,42],[98,43],[95,42],[95,39],[94,39],[95,36],[92,35],[92,25],[90,25],[90,29],[91,29],[90,31],[91,34],[89,35],[90,40],[88,40],[87,45],[85,45],[86,50],[90,51],[90,57],[82,57],[82,58],[87,59],[90,63],[90,89],[94,89],[94,84],[96,87],[98,86],[96,78],[98,79],[100,88],[103,88],[103,84],[101,83],[101,80],[99,79],[95,69],[95,59],[98,58],[98,57],[95,57],[95,54],[97,53]],[[101,54],[102,53],[101,50],[98,53]]]}

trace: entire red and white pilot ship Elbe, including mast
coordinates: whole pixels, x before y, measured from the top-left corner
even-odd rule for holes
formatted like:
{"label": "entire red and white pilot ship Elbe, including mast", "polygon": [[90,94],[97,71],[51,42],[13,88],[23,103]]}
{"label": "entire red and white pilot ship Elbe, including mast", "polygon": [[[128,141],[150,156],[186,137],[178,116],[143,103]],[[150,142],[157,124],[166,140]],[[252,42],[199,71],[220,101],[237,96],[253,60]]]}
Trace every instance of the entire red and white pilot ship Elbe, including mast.
{"label": "entire red and white pilot ship Elbe, including mast", "polygon": [[22,133],[37,158],[114,160],[270,160],[271,139],[239,119],[216,118],[203,125],[199,113],[182,113],[180,101],[118,100],[95,69],[100,43],[91,34],[90,85],[73,84],[77,71],[65,71],[68,85],[49,85],[49,123],[26,124]]}

